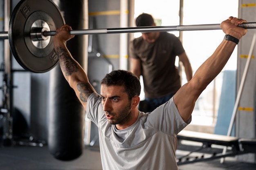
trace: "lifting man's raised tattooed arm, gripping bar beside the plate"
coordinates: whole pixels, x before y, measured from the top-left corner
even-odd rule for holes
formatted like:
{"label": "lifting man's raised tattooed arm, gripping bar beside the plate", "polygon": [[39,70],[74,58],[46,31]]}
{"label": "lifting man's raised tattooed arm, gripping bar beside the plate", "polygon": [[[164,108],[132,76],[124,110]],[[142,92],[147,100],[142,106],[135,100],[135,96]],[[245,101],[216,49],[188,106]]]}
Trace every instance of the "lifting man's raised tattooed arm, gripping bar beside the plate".
{"label": "lifting man's raised tattooed arm, gripping bar beside the plate", "polygon": [[59,58],[59,64],[65,79],[74,89],[76,96],[86,109],[88,97],[96,91],[90,84],[88,77],[81,65],[74,60],[70,51],[65,45],[66,41],[74,38],[74,35],[70,35],[70,30],[72,29],[68,25],[63,25],[61,28],[56,29],[57,33],[53,38],[54,49]]}

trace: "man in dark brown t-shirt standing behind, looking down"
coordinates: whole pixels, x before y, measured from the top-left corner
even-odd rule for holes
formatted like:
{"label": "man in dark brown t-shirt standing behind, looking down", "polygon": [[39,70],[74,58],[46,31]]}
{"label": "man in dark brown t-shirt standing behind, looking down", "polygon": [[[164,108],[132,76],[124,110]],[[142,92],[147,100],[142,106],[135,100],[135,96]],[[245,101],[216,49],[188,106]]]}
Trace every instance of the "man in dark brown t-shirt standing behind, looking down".
{"label": "man in dark brown t-shirt standing behind, looking down", "polygon": [[[137,26],[155,26],[151,15],[143,13],[136,19]],[[186,78],[192,78],[192,68],[179,38],[167,32],[142,33],[130,44],[130,71],[138,78],[143,76],[146,108],[151,112],[167,102],[181,87],[180,73],[175,66],[179,57],[184,65]]]}

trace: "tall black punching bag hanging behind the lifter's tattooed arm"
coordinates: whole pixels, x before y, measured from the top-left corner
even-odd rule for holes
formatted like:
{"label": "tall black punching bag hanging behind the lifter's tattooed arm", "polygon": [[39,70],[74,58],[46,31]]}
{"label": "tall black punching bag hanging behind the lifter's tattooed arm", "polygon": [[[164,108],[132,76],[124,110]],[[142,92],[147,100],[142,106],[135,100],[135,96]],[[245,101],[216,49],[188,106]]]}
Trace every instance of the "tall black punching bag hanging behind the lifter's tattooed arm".
{"label": "tall black punching bag hanging behind the lifter's tattooed arm", "polygon": [[[53,0],[63,14],[66,24],[74,30],[88,29],[87,0]],[[83,68],[87,59],[86,35],[77,35],[67,41],[67,48]],[[48,148],[59,160],[78,158],[84,148],[85,109],[74,90],[65,80],[59,64],[50,71],[50,110]]]}

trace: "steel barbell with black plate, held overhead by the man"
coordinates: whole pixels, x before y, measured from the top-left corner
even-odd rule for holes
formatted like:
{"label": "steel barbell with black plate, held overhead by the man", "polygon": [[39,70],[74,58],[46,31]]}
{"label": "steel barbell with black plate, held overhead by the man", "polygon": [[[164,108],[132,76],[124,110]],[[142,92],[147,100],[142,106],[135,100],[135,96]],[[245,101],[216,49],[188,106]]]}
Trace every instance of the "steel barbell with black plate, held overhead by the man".
{"label": "steel barbell with black plate, held overhead by the man", "polygon": [[[44,73],[51,70],[58,57],[54,51],[51,36],[65,20],[56,4],[51,0],[21,0],[13,9],[9,20],[9,31],[0,32],[0,40],[9,39],[13,56],[25,70]],[[246,29],[256,28],[255,22],[238,26]],[[130,28],[72,30],[72,35],[135,33],[161,31],[199,31],[218,30],[220,24],[143,26]]]}

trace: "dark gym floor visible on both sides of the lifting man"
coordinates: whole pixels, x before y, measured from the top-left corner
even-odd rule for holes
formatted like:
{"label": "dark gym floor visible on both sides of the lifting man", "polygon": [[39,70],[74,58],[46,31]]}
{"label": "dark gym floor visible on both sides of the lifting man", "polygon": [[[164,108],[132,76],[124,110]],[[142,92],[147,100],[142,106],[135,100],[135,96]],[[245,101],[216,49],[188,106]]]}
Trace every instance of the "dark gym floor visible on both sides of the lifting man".
{"label": "dark gym floor visible on both sides of the lifting man", "polygon": [[[178,148],[179,149],[179,148]],[[182,151],[177,150],[177,157]],[[190,163],[179,166],[180,170],[256,170],[256,164],[238,162],[227,157]],[[99,146],[85,147],[83,154],[73,161],[55,159],[47,145],[39,146],[1,146],[0,170],[102,170]]]}

